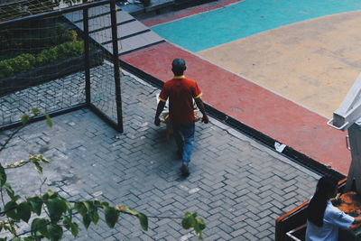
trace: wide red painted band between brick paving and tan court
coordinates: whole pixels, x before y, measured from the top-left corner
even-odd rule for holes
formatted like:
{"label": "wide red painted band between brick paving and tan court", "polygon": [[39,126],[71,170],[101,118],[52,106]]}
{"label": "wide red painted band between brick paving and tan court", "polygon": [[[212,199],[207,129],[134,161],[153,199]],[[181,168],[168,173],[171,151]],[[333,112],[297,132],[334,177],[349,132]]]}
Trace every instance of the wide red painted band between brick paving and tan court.
{"label": "wide red painted band between brick paving and tan court", "polygon": [[198,81],[208,105],[347,175],[351,157],[345,134],[326,125],[326,118],[168,42],[120,59],[166,81],[174,58],[187,61],[186,76]]}

